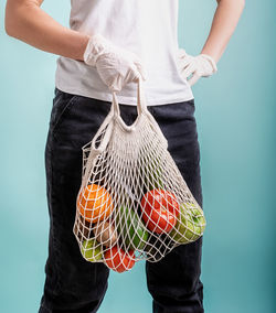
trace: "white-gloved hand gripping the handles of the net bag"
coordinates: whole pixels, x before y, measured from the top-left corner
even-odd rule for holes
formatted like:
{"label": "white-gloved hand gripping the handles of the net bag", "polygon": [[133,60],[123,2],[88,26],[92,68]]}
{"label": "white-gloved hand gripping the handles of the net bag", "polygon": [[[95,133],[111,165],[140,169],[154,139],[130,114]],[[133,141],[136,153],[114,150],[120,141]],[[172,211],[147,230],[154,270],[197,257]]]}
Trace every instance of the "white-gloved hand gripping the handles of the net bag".
{"label": "white-gloved hand gripping the handles of the net bag", "polygon": [[103,82],[112,91],[119,91],[139,77],[146,80],[146,74],[139,57],[127,50],[118,47],[100,34],[91,36],[84,52],[84,62],[95,66]]}

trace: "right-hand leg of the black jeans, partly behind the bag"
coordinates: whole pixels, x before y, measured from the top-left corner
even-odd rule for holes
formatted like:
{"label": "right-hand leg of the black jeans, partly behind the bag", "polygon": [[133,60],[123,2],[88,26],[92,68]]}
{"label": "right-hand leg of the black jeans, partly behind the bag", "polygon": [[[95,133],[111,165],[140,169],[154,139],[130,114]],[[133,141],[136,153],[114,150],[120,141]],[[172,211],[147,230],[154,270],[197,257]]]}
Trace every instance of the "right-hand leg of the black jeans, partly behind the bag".
{"label": "right-hand leg of the black jeans, partly behind the bag", "polygon": [[[169,152],[202,207],[200,145],[194,109],[193,100],[149,107],[168,140]],[[155,312],[203,312],[201,251],[202,238],[174,248],[158,262],[146,262]]]}

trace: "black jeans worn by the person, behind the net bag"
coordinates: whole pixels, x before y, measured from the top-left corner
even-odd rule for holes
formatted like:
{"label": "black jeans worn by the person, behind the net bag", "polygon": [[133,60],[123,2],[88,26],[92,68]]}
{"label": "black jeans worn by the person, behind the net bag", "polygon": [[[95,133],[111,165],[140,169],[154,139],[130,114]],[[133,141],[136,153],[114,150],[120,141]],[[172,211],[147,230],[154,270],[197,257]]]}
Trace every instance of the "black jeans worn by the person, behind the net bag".
{"label": "black jeans worn by the person, behind the net bag", "polygon": [[[168,139],[168,149],[202,206],[200,149],[193,100],[148,107]],[[107,290],[109,269],[83,259],[73,235],[75,202],[82,180],[82,147],[96,133],[110,102],[55,88],[45,147],[50,214],[49,257],[40,313],[92,313]],[[120,105],[127,125],[137,107]],[[156,313],[201,313],[202,238],[174,248],[156,263],[146,261],[148,290]],[[116,312],[116,310],[114,311]],[[146,313],[146,312],[145,312]]]}

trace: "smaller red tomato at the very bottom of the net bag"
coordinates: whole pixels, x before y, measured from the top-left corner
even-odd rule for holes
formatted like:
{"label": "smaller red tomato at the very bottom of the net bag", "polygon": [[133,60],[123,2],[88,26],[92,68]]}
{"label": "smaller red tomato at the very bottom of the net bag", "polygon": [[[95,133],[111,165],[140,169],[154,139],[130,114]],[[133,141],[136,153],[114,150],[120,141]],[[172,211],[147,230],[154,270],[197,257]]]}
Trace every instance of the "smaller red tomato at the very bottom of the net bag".
{"label": "smaller red tomato at the very bottom of the net bag", "polygon": [[128,255],[118,246],[115,246],[105,252],[105,262],[109,269],[121,273],[135,266],[135,252],[129,250]]}

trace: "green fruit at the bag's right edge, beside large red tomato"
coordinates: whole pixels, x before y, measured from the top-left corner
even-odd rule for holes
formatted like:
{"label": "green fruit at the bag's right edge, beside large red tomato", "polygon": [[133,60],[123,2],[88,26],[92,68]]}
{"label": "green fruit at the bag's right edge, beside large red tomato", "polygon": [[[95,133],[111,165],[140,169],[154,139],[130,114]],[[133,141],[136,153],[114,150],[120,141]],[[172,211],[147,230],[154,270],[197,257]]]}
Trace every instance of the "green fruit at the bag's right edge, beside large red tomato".
{"label": "green fruit at the bag's right edge, beside large red tomato", "polygon": [[169,236],[180,244],[192,242],[203,235],[205,226],[203,211],[192,203],[182,203],[179,219]]}

